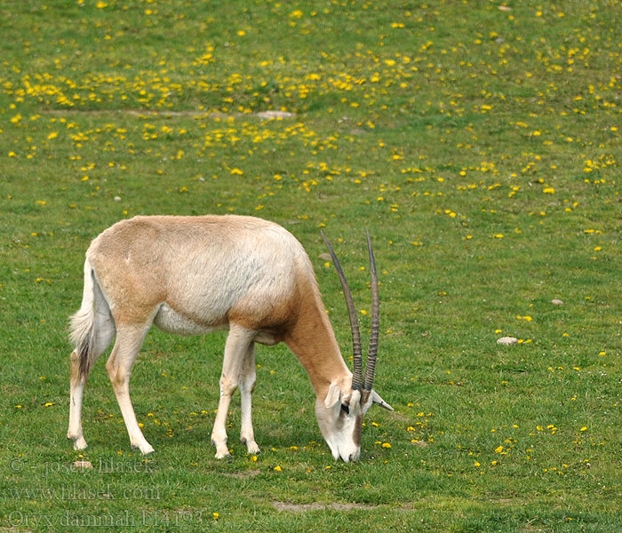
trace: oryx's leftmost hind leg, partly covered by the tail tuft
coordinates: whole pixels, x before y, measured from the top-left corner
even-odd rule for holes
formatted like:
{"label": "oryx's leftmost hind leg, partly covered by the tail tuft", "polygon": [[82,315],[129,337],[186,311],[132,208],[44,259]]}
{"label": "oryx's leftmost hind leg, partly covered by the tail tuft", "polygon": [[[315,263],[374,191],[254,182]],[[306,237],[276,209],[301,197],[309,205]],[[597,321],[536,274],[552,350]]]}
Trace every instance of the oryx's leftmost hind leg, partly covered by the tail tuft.
{"label": "oryx's leftmost hind leg, partly covered by the tail tuft", "polygon": [[[106,351],[112,338],[115,336],[115,322],[109,314],[95,315],[95,328],[97,332],[93,343],[92,364]],[[92,364],[87,367],[87,373],[81,375],[80,361],[74,350],[69,355],[71,365],[71,378],[69,381],[69,427],[67,438],[74,442],[74,449],[85,449],[86,441],[82,431],[82,401],[84,397],[84,386],[89,377]]]}

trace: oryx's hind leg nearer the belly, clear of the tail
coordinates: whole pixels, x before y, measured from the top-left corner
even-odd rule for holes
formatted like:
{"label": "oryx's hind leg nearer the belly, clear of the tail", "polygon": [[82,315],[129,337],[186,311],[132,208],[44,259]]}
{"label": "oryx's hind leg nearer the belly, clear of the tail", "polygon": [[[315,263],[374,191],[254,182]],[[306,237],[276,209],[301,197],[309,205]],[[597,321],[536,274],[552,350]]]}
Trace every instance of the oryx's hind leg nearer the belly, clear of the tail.
{"label": "oryx's hind leg nearer the belly, clear of the tail", "polygon": [[118,402],[121,414],[124,417],[127,433],[130,435],[130,444],[132,448],[140,449],[143,454],[151,453],[154,449],[140,431],[139,423],[136,420],[130,398],[130,374],[148,330],[148,325],[117,327],[115,347],[106,363],[108,378],[110,378],[110,383],[115,391],[116,402]]}

